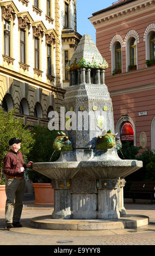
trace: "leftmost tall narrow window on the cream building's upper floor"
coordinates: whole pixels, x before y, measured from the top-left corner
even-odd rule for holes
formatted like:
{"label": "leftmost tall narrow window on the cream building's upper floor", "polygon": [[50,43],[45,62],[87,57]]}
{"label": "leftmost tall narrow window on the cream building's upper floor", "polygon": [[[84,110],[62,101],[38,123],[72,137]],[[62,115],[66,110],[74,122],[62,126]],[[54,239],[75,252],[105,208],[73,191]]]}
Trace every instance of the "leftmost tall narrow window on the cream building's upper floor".
{"label": "leftmost tall narrow window on the cream building's upper floor", "polygon": [[10,22],[5,21],[4,25],[4,55],[10,57]]}

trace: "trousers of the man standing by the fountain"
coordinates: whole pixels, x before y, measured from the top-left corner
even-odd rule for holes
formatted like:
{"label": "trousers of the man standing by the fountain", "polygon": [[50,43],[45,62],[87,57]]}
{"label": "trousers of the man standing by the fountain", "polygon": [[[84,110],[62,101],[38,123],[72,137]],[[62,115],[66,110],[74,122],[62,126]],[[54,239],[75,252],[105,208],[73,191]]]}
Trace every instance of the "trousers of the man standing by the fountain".
{"label": "trousers of the man standing by the fountain", "polygon": [[19,180],[6,177],[5,193],[7,201],[5,205],[5,222],[7,224],[20,221],[23,208],[24,191],[24,179]]}

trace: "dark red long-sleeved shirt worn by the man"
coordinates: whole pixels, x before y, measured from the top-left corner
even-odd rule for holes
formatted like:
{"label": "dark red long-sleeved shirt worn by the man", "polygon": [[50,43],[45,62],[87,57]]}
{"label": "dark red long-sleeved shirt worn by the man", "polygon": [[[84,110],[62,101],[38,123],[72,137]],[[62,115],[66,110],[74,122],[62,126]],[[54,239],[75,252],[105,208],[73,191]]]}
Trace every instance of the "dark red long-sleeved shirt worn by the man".
{"label": "dark red long-sleeved shirt worn by the man", "polygon": [[[18,160],[17,159],[20,159]],[[18,176],[22,177],[24,175],[24,172],[19,173],[18,169],[21,167],[26,168],[26,165],[23,162],[23,155],[20,151],[17,153],[13,150],[10,150],[7,155],[4,157],[4,165],[3,165],[3,172],[6,175],[9,176]]]}

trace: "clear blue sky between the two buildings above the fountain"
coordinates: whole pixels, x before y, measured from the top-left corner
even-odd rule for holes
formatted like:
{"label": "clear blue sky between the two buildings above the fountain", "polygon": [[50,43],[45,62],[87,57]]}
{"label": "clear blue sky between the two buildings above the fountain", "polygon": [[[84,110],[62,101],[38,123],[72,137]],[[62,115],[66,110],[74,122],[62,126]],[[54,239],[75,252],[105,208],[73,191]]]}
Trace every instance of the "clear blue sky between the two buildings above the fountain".
{"label": "clear blue sky between the two buildings above the fountain", "polygon": [[112,5],[117,0],[77,0],[77,32],[81,35],[89,34],[96,44],[96,31],[88,20],[92,13]]}

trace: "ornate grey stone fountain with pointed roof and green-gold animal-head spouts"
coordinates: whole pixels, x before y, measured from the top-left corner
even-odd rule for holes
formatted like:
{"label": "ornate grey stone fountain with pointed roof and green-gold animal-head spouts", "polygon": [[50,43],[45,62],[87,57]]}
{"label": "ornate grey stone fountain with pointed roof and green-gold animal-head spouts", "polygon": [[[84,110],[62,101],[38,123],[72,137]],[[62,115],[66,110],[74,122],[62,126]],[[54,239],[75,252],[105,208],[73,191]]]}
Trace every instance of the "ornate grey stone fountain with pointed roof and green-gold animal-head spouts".
{"label": "ornate grey stone fountain with pointed roof and green-gold animal-head spouts", "polygon": [[113,105],[104,83],[107,68],[91,37],[83,35],[67,65],[66,124],[53,145],[60,157],[33,164],[34,170],[52,179],[53,219],[113,220],[126,214],[125,177],[142,162],[117,155],[121,142],[115,136]]}

